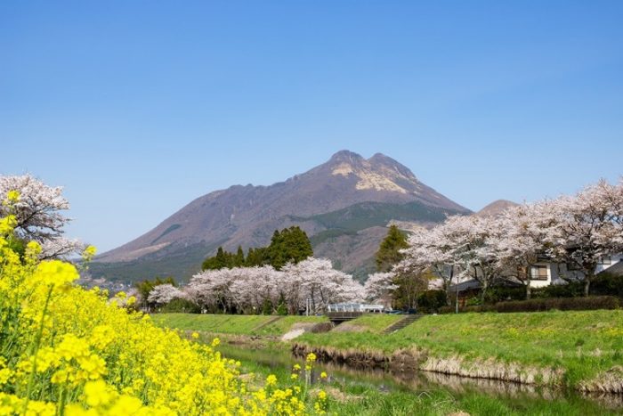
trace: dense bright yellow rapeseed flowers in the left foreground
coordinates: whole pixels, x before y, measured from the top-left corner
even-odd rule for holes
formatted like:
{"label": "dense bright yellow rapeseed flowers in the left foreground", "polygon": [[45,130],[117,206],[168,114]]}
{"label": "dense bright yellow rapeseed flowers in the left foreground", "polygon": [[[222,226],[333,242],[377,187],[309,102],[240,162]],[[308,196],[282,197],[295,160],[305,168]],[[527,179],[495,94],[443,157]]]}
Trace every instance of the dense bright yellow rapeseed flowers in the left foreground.
{"label": "dense bright yellow rapeseed flowers in the left foreground", "polygon": [[[8,192],[9,212],[19,192]],[[244,381],[239,363],[132,312],[134,298],[73,284],[74,265],[0,219],[0,414],[309,414],[326,394],[289,379]],[[94,249],[85,250],[85,259]],[[193,339],[197,339],[195,333]],[[308,359],[312,365],[313,355]]]}

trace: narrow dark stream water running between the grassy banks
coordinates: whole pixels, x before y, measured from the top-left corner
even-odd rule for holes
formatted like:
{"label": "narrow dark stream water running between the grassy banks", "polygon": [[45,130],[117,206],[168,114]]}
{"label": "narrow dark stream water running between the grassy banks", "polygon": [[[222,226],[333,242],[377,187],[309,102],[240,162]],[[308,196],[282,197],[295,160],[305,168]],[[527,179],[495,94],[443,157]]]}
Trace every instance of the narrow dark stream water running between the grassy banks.
{"label": "narrow dark stream water running between the grassy banks", "polygon": [[[287,350],[273,348],[255,348],[240,345],[224,344],[219,347],[223,356],[244,362],[258,363],[271,369],[289,371],[295,363],[302,363]],[[581,409],[587,401],[593,402],[604,410],[623,414],[623,395],[586,395],[570,389],[534,387],[518,383],[491,380],[471,379],[429,371],[390,372],[380,369],[353,369],[328,363],[317,363],[312,370],[312,383],[320,380],[320,372],[328,373],[329,381],[341,386],[361,386],[379,391],[413,392],[426,394],[432,390],[445,390],[453,395],[478,393],[494,396],[501,401],[554,402],[564,400],[578,404]],[[581,413],[580,413],[581,414]]]}

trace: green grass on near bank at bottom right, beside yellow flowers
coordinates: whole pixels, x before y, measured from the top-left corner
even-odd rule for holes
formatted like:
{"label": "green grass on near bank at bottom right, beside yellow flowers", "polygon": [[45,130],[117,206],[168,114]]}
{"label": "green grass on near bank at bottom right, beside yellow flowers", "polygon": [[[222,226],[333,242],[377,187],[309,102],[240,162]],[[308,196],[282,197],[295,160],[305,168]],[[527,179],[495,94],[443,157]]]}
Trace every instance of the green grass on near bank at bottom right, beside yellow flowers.
{"label": "green grass on near bank at bottom right, beside yellow flowers", "polygon": [[[293,361],[279,359],[289,357],[286,351],[247,350],[239,347],[223,347],[223,356],[241,363],[244,373],[253,374],[255,379],[266,379],[274,374],[278,386],[287,387]],[[221,347],[220,347],[221,348]],[[266,360],[270,355],[271,359]],[[319,364],[321,365],[321,364]],[[512,390],[494,395],[473,387],[460,387],[459,391],[446,388],[409,387],[390,379],[376,379],[374,375],[361,372],[350,377],[334,373],[332,368],[320,368],[328,373],[327,379],[315,378],[311,391],[320,388],[328,394],[328,414],[356,414],[363,416],[407,416],[470,414],[472,416],[558,416],[558,415],[615,415],[618,409],[609,409],[598,402],[581,396],[558,396],[555,399],[541,395],[517,393]],[[319,369],[314,369],[318,373]]]}

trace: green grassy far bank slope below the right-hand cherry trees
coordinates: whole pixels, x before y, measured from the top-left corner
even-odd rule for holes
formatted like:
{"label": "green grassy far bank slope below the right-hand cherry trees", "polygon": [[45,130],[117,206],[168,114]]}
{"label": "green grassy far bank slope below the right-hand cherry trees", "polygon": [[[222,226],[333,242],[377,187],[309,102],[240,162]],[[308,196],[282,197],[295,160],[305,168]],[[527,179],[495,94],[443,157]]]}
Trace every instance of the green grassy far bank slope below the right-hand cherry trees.
{"label": "green grassy far bank slope below the right-hand cherry trees", "polygon": [[[377,323],[368,325],[378,328],[385,322]],[[384,354],[417,347],[435,357],[458,355],[472,361],[493,359],[562,369],[563,383],[569,386],[623,365],[622,310],[428,315],[395,333],[377,332],[334,330],[304,334],[296,342]]]}

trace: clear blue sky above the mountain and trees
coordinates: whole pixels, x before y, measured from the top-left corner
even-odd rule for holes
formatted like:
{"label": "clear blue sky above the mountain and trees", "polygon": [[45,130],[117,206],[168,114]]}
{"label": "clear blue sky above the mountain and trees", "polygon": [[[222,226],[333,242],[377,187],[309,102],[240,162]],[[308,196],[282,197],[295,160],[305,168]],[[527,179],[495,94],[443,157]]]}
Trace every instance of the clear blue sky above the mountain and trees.
{"label": "clear blue sky above the mountain and trees", "polygon": [[111,249],[380,151],[468,208],[623,173],[623,2],[2,2],[0,174]]}

